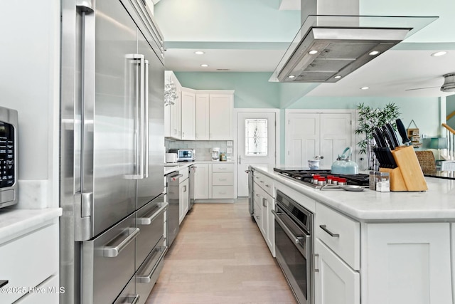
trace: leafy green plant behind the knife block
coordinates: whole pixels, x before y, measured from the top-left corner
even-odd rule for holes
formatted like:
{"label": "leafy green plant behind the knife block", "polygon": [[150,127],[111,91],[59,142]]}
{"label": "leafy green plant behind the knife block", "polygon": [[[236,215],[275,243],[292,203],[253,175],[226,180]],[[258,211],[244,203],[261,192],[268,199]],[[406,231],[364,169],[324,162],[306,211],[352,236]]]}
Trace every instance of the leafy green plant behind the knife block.
{"label": "leafy green plant behind the knife block", "polygon": [[363,135],[363,139],[357,143],[360,147],[360,154],[367,154],[368,169],[378,169],[378,161],[373,153],[373,130],[375,127],[382,127],[387,122],[390,122],[396,129],[395,120],[400,116],[399,108],[395,103],[387,103],[384,108],[372,108],[369,105],[360,103],[357,106],[358,110],[358,127],[355,129],[355,134]]}

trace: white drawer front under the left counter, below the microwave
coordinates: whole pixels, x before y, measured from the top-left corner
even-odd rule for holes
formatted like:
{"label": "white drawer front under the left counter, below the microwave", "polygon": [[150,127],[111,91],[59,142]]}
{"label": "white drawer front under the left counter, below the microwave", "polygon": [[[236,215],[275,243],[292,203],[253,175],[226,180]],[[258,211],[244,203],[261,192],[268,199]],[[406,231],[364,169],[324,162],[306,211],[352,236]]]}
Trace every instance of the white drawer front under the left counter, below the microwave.
{"label": "white drawer front under the left counter, below the microwave", "polygon": [[[0,261],[1,279],[9,281],[5,288],[33,288],[58,274],[58,224],[0,245]],[[13,303],[23,294],[0,293],[0,303]]]}

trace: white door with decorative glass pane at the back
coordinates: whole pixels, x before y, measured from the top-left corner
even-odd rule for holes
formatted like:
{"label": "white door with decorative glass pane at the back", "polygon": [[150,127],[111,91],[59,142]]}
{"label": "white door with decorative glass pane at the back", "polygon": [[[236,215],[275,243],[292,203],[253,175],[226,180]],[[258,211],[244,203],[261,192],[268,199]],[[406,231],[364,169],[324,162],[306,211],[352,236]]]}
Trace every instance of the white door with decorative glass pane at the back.
{"label": "white door with decorative glass pane at the back", "polygon": [[276,164],[276,112],[237,112],[237,196],[248,196],[250,164]]}

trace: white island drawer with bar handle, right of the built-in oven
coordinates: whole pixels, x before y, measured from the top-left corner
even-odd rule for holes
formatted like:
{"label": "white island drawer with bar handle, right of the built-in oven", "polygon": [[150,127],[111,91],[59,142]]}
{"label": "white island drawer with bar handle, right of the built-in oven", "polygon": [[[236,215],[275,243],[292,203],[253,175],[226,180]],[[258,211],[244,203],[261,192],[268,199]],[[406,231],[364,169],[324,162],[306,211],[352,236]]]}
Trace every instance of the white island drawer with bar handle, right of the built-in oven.
{"label": "white island drawer with bar handle, right of the built-in oven", "polygon": [[354,270],[360,269],[360,223],[316,204],[316,238],[340,256]]}

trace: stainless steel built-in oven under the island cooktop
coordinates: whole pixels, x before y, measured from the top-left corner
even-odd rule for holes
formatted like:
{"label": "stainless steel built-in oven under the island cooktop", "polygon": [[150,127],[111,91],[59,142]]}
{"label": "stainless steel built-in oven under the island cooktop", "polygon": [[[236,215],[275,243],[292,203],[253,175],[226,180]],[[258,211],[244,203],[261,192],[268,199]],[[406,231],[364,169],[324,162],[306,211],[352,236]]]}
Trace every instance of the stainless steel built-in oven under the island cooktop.
{"label": "stainless steel built-in oven under the island cooktop", "polygon": [[313,214],[277,190],[275,251],[277,262],[300,304],[313,299]]}

